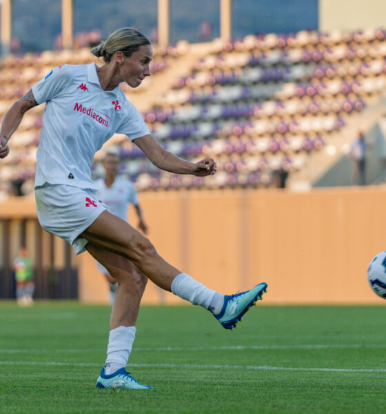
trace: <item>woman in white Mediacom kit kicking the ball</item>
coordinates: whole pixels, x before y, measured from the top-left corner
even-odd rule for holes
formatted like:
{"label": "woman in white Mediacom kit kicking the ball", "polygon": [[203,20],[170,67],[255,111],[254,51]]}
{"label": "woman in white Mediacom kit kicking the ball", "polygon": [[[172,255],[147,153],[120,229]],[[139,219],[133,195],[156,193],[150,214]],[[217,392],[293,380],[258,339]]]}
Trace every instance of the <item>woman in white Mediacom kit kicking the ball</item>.
{"label": "woman in white Mediacom kit kicking the ball", "polygon": [[[204,177],[213,175],[211,158],[192,163],[164,150],[150,135],[139,111],[119,83],[131,88],[150,76],[152,47],[137,30],[116,30],[92,48],[103,66],[63,65],[51,70],[6,113],[0,130],[0,158],[9,154],[8,140],[30,108],[45,102],[37,150],[35,197],[41,226],[88,252],[119,283],[110,319],[105,367],[96,382],[101,388],[151,388],[125,371],[145,280],[203,306],[226,329],[236,327],[244,313],[261,299],[267,284],[236,295],[221,295],[165,262],[150,241],[99,200],[91,179],[94,154],[115,132],[128,135],[152,163],[166,171]],[[203,236],[207,237],[207,236]]]}

